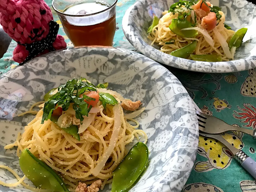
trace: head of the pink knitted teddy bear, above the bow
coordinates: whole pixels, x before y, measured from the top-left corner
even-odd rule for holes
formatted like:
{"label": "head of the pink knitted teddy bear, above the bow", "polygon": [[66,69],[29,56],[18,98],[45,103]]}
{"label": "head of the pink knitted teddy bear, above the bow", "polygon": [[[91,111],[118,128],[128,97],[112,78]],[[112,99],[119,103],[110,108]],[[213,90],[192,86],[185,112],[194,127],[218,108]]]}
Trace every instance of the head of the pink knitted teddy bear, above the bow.
{"label": "head of the pink knitted teddy bear, above the bow", "polygon": [[0,23],[14,41],[30,44],[47,36],[53,15],[43,0],[2,1],[6,4],[0,4]]}

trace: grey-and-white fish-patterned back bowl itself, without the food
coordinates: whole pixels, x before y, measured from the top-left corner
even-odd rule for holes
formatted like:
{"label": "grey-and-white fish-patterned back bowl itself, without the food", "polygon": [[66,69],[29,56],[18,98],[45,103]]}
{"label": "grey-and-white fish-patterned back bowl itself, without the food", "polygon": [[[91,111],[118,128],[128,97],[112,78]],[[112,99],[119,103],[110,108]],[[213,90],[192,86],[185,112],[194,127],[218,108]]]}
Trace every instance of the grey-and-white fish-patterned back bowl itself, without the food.
{"label": "grey-and-white fish-patterned back bowl itself, without the food", "polygon": [[210,0],[214,6],[221,7],[226,16],[225,23],[231,26],[231,29],[248,28],[233,61],[193,61],[163,53],[157,45],[151,46],[151,40],[147,38],[147,29],[154,16],[162,17],[162,12],[169,10],[170,5],[177,1],[139,0],[126,11],[122,21],[123,32],[138,51],[159,63],[189,71],[229,73],[256,67],[256,5],[246,0]]}

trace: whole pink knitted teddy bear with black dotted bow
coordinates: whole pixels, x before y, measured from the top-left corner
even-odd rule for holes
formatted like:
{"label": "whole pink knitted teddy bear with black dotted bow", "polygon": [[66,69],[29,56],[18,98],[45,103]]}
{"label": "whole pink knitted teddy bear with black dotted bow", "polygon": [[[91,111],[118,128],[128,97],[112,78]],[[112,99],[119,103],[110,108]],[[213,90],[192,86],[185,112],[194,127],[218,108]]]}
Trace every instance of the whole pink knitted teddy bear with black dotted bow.
{"label": "whole pink knitted teddy bear with black dotted bow", "polygon": [[43,0],[0,0],[0,24],[18,43],[13,60],[20,64],[67,46],[64,38],[57,35],[59,25]]}

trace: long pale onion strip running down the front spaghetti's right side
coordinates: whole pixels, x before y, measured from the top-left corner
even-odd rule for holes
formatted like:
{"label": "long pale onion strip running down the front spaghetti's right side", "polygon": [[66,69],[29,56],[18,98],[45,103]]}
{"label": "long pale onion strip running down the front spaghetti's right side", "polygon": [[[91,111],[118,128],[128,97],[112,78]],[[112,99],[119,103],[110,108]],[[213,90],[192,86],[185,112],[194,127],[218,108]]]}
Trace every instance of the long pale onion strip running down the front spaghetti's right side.
{"label": "long pale onion strip running down the front spaghetti's right side", "polygon": [[97,166],[91,172],[95,177],[97,177],[97,175],[101,172],[101,170],[105,166],[107,159],[110,157],[117,143],[118,134],[121,128],[121,112],[119,110],[119,104],[113,107],[113,113],[114,113],[114,126],[113,126],[112,135],[109,141],[109,146],[107,147],[106,152],[99,158]]}

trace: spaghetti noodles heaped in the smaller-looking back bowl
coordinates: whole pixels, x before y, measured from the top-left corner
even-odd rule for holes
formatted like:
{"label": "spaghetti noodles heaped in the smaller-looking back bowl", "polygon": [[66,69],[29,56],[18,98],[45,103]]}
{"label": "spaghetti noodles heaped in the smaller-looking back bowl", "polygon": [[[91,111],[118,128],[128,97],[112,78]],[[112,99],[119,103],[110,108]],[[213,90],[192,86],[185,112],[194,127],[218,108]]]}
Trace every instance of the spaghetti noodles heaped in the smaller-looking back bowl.
{"label": "spaghetti noodles heaped in the smaller-looking back bowl", "polygon": [[[200,0],[198,3],[200,2],[203,4],[202,0]],[[208,2],[206,3],[208,4]],[[214,29],[206,30],[205,23],[203,20],[205,17],[207,17],[207,15],[200,14],[200,11],[198,10],[204,11],[202,10],[203,8],[202,9],[201,8],[199,7],[199,9],[197,9],[192,6],[189,9],[186,9],[184,5],[179,7],[179,9],[182,9],[183,11],[182,13],[188,14],[188,16],[183,19],[186,19],[187,21],[191,21],[191,23],[194,23],[196,26],[196,27],[186,28],[181,30],[195,29],[198,31],[198,34],[195,37],[187,38],[185,36],[177,35],[176,33],[174,33],[169,28],[169,26],[171,25],[173,19],[178,19],[180,17],[181,13],[178,10],[176,12],[164,11],[162,13],[163,14],[162,18],[159,19],[158,24],[155,25],[152,28],[152,31],[148,34],[148,38],[152,41],[151,45],[153,45],[154,43],[157,43],[158,45],[160,45],[160,51],[167,54],[171,54],[171,52],[181,49],[186,45],[189,45],[192,41],[197,41],[197,46],[196,46],[196,49],[194,50],[194,54],[196,55],[215,54],[221,57],[222,61],[229,61],[230,59],[233,59],[234,54],[230,54],[228,46],[223,47],[223,42],[222,42],[224,40],[225,42],[228,43],[235,33],[235,31],[225,28],[224,13],[222,11],[218,11],[219,15],[221,15],[221,18],[217,20],[217,25],[214,27]],[[204,11],[203,13],[205,14],[206,12]],[[194,21],[195,20],[194,15],[196,16],[195,17],[196,21]],[[216,22],[216,18],[215,18],[215,22]],[[218,35],[217,33],[214,33],[215,31],[218,32]],[[169,43],[170,41],[172,41],[173,43]],[[191,59],[190,57],[188,58]]]}

